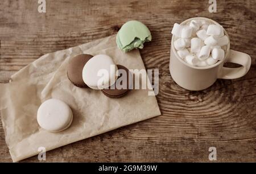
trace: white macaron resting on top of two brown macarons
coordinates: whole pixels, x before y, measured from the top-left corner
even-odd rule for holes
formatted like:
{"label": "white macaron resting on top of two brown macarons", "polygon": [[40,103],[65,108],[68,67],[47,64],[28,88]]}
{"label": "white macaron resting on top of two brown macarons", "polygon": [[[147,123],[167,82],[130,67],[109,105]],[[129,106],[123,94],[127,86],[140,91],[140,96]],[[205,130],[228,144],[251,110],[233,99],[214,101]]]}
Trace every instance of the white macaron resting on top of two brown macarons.
{"label": "white macaron resting on top of two brown macarons", "polygon": [[117,80],[115,72],[118,70],[112,57],[96,55],[92,57],[82,69],[82,80],[92,89],[105,89]]}

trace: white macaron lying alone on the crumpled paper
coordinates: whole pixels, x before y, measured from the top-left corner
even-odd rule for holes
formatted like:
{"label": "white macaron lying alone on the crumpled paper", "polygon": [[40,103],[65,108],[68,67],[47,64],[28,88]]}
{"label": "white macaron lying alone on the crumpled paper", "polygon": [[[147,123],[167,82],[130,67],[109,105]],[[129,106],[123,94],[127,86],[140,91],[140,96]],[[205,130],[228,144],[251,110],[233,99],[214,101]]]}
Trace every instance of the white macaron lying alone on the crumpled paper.
{"label": "white macaron lying alone on the crumpled paper", "polygon": [[65,102],[52,98],[40,105],[37,119],[39,126],[43,129],[59,132],[71,125],[73,114],[71,108]]}

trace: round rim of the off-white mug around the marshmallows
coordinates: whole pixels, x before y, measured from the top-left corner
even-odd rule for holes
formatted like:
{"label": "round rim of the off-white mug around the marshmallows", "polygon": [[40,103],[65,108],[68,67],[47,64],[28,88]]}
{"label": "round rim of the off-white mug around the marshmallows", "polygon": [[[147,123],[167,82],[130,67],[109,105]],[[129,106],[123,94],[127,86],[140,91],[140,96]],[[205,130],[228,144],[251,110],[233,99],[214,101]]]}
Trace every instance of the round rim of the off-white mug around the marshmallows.
{"label": "round rim of the off-white mug around the marshmallows", "polygon": [[[193,20],[193,19],[204,19],[204,20],[210,20],[210,22],[214,23],[214,24],[217,24],[218,26],[221,26],[221,24],[219,24],[218,22],[216,22],[215,20],[213,19],[209,19],[209,18],[204,18],[204,17],[195,17],[195,18],[189,18],[189,19],[186,19],[184,20],[183,22],[181,22],[180,24],[184,24],[184,23],[187,23],[188,21],[190,20]],[[229,39],[229,35],[228,35],[228,32],[226,32],[225,28],[223,28],[224,30],[224,34],[226,36],[228,36],[228,39]],[[171,40],[171,48],[172,48],[172,51],[174,52],[175,56],[177,57],[177,59],[179,61],[181,61],[181,63],[183,63],[184,65],[190,67],[190,68],[193,68],[193,69],[210,69],[210,68],[213,68],[213,67],[217,67],[218,65],[220,65],[221,63],[223,63],[225,60],[226,60],[226,57],[228,57],[229,55],[229,50],[230,50],[230,39],[229,39],[229,44],[228,44],[228,47],[226,48],[226,53],[225,53],[225,57],[223,60],[219,60],[217,63],[213,64],[213,65],[210,65],[208,67],[195,67],[195,66],[192,66],[192,65],[189,65],[187,62],[185,62],[183,59],[181,59],[181,57],[177,54],[177,51],[176,49],[174,48],[174,35],[172,35],[172,40]]]}

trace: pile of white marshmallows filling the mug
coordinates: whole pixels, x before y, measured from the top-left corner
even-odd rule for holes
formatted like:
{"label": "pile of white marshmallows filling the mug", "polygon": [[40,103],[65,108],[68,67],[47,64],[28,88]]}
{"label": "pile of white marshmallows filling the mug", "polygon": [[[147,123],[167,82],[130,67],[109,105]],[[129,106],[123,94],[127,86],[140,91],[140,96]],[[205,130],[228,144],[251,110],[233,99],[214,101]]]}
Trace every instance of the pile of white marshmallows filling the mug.
{"label": "pile of white marshmallows filling the mug", "polygon": [[191,20],[184,26],[175,23],[171,33],[177,54],[190,65],[208,67],[225,57],[223,48],[229,44],[229,38],[220,25]]}

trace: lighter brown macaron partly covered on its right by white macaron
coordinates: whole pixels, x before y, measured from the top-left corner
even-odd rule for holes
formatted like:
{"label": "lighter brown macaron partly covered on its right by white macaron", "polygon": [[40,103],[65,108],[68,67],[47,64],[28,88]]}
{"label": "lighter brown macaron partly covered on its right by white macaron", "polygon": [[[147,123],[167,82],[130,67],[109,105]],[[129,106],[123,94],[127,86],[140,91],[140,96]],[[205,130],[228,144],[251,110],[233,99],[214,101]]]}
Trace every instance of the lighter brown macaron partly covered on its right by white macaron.
{"label": "lighter brown macaron partly covered on its right by white macaron", "polygon": [[84,80],[82,80],[82,69],[84,65],[92,58],[92,55],[77,55],[73,57],[68,64],[67,73],[68,78],[72,84],[78,87],[88,87]]}

